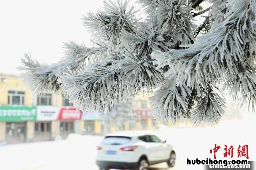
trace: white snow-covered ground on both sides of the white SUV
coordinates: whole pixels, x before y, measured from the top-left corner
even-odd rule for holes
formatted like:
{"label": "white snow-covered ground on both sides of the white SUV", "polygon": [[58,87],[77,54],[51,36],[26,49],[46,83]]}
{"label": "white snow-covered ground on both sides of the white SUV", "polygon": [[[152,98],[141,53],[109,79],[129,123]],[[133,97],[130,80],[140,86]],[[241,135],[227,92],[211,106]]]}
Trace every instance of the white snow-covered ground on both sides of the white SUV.
{"label": "white snow-covered ground on both sides of the white SUV", "polygon": [[[237,147],[249,145],[249,160],[256,161],[255,116],[240,122],[222,122],[216,127],[168,128],[161,134],[172,143],[177,153],[176,166],[170,170],[204,169],[202,165],[186,165],[189,159],[213,159],[210,149],[221,146],[217,159],[224,159],[224,144]],[[0,146],[0,170],[98,170],[95,165],[96,146],[100,136],[72,135],[66,140]],[[150,170],[167,170],[165,163]],[[168,169],[169,170],[169,169]]]}

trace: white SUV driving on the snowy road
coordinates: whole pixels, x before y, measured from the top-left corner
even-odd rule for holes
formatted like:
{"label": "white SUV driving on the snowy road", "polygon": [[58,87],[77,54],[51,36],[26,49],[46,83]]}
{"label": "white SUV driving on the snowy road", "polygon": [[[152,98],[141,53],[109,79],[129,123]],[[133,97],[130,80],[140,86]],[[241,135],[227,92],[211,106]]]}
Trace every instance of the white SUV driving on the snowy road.
{"label": "white SUV driving on the snowy road", "polygon": [[176,154],[154,131],[125,131],[106,135],[97,147],[100,170],[148,170],[149,165],[167,162],[173,167]]}

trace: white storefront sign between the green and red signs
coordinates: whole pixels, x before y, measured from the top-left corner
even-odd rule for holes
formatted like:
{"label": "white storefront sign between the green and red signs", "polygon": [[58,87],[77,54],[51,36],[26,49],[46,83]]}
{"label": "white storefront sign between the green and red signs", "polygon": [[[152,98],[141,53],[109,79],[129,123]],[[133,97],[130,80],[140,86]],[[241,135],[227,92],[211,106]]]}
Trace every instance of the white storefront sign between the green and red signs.
{"label": "white storefront sign between the green and red signs", "polygon": [[37,106],[37,120],[57,120],[60,107]]}

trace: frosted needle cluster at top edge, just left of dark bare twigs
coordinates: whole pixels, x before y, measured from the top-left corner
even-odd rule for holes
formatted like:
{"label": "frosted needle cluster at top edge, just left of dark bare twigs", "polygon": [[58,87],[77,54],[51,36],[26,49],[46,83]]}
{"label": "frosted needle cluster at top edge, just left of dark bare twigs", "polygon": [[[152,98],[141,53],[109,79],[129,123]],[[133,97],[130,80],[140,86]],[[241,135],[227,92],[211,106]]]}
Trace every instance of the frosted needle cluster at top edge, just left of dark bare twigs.
{"label": "frosted needle cluster at top edge, just left of dark bare twigs", "polygon": [[146,7],[146,12],[150,13],[148,18],[156,23],[159,31],[170,32],[174,47],[191,44],[195,40],[193,32],[196,25],[192,22],[192,8],[187,4],[187,0],[138,0],[138,2]]}

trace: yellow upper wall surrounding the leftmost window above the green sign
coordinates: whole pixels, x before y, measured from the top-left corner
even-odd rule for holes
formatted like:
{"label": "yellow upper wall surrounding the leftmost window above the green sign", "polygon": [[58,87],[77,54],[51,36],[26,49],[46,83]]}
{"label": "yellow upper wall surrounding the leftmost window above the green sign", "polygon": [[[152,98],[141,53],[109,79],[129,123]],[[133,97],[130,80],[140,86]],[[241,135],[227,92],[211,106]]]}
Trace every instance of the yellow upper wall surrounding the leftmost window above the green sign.
{"label": "yellow upper wall surrounding the leftmost window above the green sign", "polygon": [[[1,81],[5,78],[7,82]],[[28,86],[23,84],[22,80],[15,75],[0,74],[0,104],[8,105],[8,90],[25,92],[24,105],[31,105],[31,91]]]}

